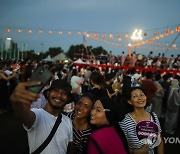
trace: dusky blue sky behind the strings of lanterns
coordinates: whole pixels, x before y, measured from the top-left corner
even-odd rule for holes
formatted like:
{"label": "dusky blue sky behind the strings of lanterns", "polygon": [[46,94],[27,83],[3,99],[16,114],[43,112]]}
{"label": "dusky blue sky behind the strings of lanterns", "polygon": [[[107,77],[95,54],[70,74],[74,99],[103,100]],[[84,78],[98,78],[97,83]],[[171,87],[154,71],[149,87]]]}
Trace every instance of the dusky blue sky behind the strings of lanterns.
{"label": "dusky blue sky behind the strings of lanterns", "polygon": [[[133,31],[142,29],[143,40],[164,33],[165,29],[174,30],[174,34],[134,48],[137,53],[165,53],[167,56],[180,54],[180,37],[176,27],[180,24],[180,0],[1,0],[0,2],[0,38],[11,37],[18,47],[37,52],[47,51],[49,47],[61,47],[66,52],[70,45],[82,44],[83,33],[98,34],[95,38],[86,37],[85,45],[102,46],[113,54],[127,52],[127,44],[133,43],[129,37]],[[11,32],[6,32],[7,29]],[[18,33],[22,29],[22,33]],[[32,34],[28,34],[28,30]],[[38,31],[42,30],[40,35]],[[52,34],[49,34],[52,31]],[[62,35],[59,35],[62,32]],[[68,32],[71,32],[68,35]],[[80,32],[81,35],[77,33]],[[106,35],[106,42],[102,35]],[[113,39],[109,38],[113,35]],[[144,36],[145,34],[145,36]],[[121,41],[117,36],[120,35]],[[120,46],[118,46],[120,45]],[[164,48],[164,49],[163,49]]]}

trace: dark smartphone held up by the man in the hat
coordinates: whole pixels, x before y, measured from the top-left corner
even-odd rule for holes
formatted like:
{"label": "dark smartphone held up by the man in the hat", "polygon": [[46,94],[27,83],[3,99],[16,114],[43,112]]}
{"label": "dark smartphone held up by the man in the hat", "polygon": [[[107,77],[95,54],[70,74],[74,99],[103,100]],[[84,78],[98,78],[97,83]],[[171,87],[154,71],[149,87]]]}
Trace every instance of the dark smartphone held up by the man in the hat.
{"label": "dark smartphone held up by the man in the hat", "polygon": [[39,66],[34,71],[29,81],[39,81],[41,82],[41,85],[28,87],[27,89],[32,92],[39,93],[43,87],[52,79],[52,77],[53,74],[46,67]]}

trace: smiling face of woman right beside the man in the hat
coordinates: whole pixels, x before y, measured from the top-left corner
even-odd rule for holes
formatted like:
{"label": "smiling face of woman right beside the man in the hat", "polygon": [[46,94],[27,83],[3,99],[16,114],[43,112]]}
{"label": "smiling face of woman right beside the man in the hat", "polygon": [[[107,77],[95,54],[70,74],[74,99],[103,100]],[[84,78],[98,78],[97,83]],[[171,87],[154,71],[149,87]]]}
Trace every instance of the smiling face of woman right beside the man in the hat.
{"label": "smiling face of woman right beside the man in the hat", "polygon": [[81,97],[75,106],[77,118],[88,118],[93,107],[93,102],[87,97]]}

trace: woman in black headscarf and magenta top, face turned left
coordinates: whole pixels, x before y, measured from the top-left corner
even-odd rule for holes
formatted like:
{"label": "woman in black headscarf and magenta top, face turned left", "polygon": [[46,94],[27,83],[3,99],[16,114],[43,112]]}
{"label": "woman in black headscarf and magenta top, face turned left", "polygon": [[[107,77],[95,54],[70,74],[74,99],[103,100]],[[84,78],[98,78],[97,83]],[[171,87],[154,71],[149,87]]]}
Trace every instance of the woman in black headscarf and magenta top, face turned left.
{"label": "woman in black headscarf and magenta top, face turned left", "polygon": [[91,110],[90,122],[97,126],[88,142],[88,154],[127,154],[126,137],[118,121],[118,104],[109,97],[99,98]]}

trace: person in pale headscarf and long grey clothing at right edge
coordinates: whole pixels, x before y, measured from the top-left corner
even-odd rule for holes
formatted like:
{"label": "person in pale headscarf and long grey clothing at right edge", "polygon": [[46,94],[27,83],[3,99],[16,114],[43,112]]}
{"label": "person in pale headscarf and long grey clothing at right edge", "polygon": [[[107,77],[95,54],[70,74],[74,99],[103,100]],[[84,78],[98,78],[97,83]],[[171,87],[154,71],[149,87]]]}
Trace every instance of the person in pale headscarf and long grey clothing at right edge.
{"label": "person in pale headscarf and long grey clothing at right edge", "polygon": [[173,79],[170,85],[170,92],[167,101],[167,109],[164,123],[164,131],[174,134],[177,127],[178,110],[180,106],[180,87],[177,79]]}

